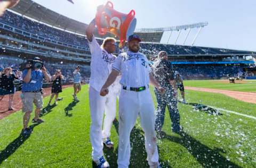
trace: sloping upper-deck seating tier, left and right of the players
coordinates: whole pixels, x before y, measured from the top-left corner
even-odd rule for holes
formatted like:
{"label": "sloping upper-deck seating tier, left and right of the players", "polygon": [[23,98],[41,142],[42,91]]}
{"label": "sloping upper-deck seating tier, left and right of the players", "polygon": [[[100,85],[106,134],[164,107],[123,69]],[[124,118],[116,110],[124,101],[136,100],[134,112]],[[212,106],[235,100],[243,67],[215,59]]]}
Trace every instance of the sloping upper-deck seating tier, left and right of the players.
{"label": "sloping upper-deck seating tier, left and right of the players", "polygon": [[[32,21],[20,15],[6,11],[0,18],[0,28],[20,33],[23,36],[46,41],[49,43],[73,47],[83,51],[89,51],[87,40],[84,36],[75,35],[67,31],[52,28],[42,23]],[[99,41],[101,41],[99,39]],[[141,44],[142,52],[145,54],[155,54],[158,51],[165,50],[172,56],[189,55],[254,55],[255,52],[238,51],[225,48],[197,47],[169,45],[159,43],[145,42]]]}

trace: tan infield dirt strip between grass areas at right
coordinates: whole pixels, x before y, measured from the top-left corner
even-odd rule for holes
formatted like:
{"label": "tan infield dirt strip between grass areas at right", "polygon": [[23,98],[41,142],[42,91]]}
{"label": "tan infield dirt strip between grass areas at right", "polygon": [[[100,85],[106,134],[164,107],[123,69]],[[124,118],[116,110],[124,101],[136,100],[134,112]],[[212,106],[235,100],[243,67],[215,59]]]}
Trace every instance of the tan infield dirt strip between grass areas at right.
{"label": "tan infield dirt strip between grass areas at right", "polygon": [[188,90],[206,91],[210,93],[224,94],[229,97],[236,98],[243,102],[256,104],[256,93],[243,92],[243,91],[232,91],[232,90],[220,90],[220,89],[208,89],[208,88],[196,88],[196,87],[185,87]]}

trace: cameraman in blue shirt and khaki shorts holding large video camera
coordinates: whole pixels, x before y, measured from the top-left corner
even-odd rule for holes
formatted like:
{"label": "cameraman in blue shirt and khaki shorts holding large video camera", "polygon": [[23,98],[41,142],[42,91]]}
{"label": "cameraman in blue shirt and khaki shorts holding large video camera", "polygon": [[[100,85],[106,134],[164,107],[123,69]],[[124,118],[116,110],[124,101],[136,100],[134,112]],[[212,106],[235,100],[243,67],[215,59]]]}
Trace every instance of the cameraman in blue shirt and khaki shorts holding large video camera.
{"label": "cameraman in blue shirt and khaki shorts holding large video camera", "polygon": [[22,111],[25,113],[23,116],[23,135],[29,135],[31,130],[28,128],[30,114],[33,111],[33,103],[36,106],[35,117],[32,120],[33,123],[42,123],[42,119],[39,119],[41,108],[43,107],[43,78],[46,81],[50,81],[50,75],[44,67],[42,60],[39,57],[35,57],[34,60],[28,60],[26,69],[23,70],[23,84],[21,88],[21,100],[23,103]]}

